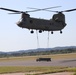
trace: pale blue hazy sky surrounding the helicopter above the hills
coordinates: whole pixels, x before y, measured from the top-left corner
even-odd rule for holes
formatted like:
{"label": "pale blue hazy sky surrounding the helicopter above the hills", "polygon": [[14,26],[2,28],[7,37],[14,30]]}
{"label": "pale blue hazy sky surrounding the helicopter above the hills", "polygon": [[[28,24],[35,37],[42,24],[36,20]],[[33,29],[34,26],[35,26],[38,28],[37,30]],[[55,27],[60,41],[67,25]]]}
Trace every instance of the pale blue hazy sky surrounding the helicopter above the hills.
{"label": "pale blue hazy sky surrounding the helicopter above the hills", "polygon": [[[47,8],[62,6],[51,10],[66,10],[76,8],[76,0],[0,0],[0,7],[28,11],[27,7]],[[38,34],[39,46],[37,44],[36,31],[31,34],[28,29],[19,28],[16,22],[20,20],[21,14],[8,14],[9,11],[0,10],[0,51],[18,51],[36,48],[47,48],[48,32]],[[53,12],[31,12],[31,17],[51,19]],[[64,13],[67,26],[62,30],[49,34],[49,48],[57,46],[76,46],[76,11]]]}

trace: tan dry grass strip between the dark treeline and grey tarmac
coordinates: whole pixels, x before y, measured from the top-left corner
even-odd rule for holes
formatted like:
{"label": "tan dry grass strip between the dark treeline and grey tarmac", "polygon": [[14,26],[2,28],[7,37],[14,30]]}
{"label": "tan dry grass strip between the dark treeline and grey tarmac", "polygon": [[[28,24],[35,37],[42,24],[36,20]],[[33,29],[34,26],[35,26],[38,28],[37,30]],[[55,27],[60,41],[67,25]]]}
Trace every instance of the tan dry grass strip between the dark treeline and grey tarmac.
{"label": "tan dry grass strip between the dark treeline and grey tarmac", "polygon": [[74,59],[76,58],[76,53],[69,53],[69,54],[52,54],[52,55],[39,55],[39,56],[22,56],[22,57],[6,57],[6,58],[0,58],[1,61],[12,61],[12,60],[35,60],[39,57],[49,57],[53,60],[56,59]]}

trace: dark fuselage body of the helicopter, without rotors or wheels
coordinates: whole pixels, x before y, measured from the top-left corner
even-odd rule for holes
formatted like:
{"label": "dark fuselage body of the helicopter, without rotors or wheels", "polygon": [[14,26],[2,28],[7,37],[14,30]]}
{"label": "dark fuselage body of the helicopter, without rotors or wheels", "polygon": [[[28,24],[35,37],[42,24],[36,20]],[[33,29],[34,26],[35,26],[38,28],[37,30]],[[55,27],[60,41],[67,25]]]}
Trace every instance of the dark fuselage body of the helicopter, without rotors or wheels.
{"label": "dark fuselage body of the helicopter, without rotors or wheels", "polygon": [[[55,19],[54,19],[55,18]],[[35,29],[41,31],[61,31],[65,26],[65,21],[59,20],[59,16],[54,15],[52,19],[31,18],[28,15],[17,23],[19,27]],[[63,19],[63,18],[62,18]]]}

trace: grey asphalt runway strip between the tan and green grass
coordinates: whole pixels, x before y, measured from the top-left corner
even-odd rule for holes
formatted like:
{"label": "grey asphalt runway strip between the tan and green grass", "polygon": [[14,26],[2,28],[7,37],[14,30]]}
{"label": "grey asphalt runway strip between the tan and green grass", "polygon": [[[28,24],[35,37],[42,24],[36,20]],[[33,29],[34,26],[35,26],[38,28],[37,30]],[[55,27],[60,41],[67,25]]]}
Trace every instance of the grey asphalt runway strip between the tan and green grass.
{"label": "grey asphalt runway strip between the tan and green grass", "polygon": [[76,59],[60,59],[52,61],[36,61],[36,60],[12,60],[0,61],[0,66],[63,66],[76,67]]}

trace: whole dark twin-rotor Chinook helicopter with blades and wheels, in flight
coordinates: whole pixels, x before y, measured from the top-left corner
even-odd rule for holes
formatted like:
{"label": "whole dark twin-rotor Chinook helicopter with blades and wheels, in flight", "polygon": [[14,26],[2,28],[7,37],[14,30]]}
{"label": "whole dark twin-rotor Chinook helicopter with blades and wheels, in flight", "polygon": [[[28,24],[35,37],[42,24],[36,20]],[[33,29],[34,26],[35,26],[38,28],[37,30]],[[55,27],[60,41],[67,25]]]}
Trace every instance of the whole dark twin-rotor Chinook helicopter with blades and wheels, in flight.
{"label": "whole dark twin-rotor Chinook helicopter with blades and wheels, in flight", "polygon": [[[64,11],[48,10],[48,9],[56,8],[56,7],[44,8],[44,9],[31,8],[33,9],[32,11],[25,11],[25,12],[12,10],[8,8],[2,8],[2,7],[0,7],[0,9],[14,12],[11,14],[22,14],[21,20],[17,22],[17,25],[21,28],[27,28],[29,30],[31,29],[31,33],[34,33],[33,30],[39,30],[39,33],[41,33],[42,31],[48,31],[48,32],[51,31],[51,33],[53,34],[53,31],[60,31],[60,33],[62,33],[62,29],[66,26],[65,15],[63,14],[63,12],[71,12],[71,11],[76,10],[76,8],[70,9],[70,10],[64,10]],[[35,11],[41,11],[41,10],[56,12],[57,14],[54,14],[52,19],[49,19],[49,20],[33,18],[33,17],[30,17],[29,14],[27,14],[28,12],[35,12]]]}

